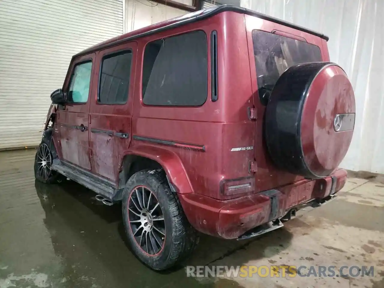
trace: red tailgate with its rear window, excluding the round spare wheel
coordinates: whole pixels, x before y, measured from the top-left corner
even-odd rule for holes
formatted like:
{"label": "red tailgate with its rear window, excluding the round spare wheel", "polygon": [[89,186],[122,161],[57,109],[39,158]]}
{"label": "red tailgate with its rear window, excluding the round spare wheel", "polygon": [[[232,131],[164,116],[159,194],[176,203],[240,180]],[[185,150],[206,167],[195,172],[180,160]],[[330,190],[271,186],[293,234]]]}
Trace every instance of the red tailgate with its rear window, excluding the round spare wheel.
{"label": "red tailgate with its rear window, excluding the round spare wheel", "polygon": [[[255,21],[257,19],[257,21]],[[276,169],[263,139],[263,119],[268,96],[283,72],[293,65],[323,61],[321,38],[277,23],[245,15],[252,76],[253,103],[257,114],[255,159],[256,190],[264,191],[303,179]]]}

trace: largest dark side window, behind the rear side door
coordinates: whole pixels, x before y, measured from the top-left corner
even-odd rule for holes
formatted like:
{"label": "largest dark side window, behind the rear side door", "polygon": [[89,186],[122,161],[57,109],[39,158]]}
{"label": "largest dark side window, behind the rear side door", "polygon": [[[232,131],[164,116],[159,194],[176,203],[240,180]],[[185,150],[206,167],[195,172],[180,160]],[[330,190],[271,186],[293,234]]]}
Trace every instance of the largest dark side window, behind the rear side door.
{"label": "largest dark side window, behind the rear side door", "polygon": [[142,97],[146,105],[200,106],[207,100],[207,36],[194,31],[148,43]]}

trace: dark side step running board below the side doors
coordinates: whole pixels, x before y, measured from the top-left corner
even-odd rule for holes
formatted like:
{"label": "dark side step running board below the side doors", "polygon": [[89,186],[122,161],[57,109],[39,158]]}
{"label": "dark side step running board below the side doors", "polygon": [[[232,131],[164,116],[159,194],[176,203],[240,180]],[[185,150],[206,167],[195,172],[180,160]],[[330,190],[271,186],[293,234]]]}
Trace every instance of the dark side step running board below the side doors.
{"label": "dark side step running board below the side doors", "polygon": [[71,180],[78,182],[79,184],[91,189],[97,194],[103,195],[106,199],[114,202],[117,190],[113,183],[103,178],[97,177],[90,172],[76,167],[72,164],[54,159],[52,163],[52,169],[70,178]]}

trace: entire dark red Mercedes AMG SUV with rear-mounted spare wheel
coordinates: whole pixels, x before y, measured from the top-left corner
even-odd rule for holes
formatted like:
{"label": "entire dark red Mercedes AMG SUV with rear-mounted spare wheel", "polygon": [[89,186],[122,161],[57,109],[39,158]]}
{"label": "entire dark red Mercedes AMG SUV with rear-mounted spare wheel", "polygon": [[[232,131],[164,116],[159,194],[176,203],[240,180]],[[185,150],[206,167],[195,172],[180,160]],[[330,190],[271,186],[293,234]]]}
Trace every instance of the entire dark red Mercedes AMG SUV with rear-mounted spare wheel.
{"label": "entire dark red Mercedes AMG SUV with rear-mounted spare wheel", "polygon": [[185,259],[197,231],[281,227],[346,182],[354,93],[327,40],[223,5],[84,50],[51,94],[36,179],[122,201],[132,250],[156,270]]}

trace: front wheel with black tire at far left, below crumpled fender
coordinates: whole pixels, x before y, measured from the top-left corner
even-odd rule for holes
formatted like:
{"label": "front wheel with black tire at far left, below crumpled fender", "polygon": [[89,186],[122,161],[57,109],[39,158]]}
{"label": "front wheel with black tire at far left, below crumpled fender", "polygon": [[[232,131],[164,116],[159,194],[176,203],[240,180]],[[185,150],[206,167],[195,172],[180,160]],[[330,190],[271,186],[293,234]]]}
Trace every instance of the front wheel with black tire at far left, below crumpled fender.
{"label": "front wheel with black tire at far left, below crumpled fender", "polygon": [[36,151],[34,170],[35,179],[46,184],[56,183],[60,178],[60,174],[51,169],[54,149],[51,135],[49,133],[44,134]]}

